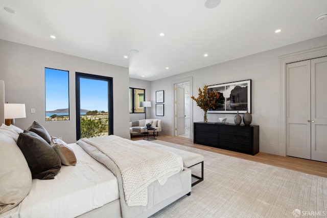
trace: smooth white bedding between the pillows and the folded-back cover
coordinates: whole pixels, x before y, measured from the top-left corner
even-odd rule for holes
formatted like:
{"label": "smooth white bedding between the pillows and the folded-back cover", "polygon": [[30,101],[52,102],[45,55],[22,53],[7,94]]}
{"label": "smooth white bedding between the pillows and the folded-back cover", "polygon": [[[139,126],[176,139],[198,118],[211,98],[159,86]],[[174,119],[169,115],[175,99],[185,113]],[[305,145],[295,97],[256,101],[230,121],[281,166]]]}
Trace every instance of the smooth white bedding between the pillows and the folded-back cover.
{"label": "smooth white bedding between the pillows and the folded-back cover", "polygon": [[54,180],[32,181],[27,197],[0,217],[76,217],[119,199],[113,173],[90,157],[79,145],[69,144],[76,166],[62,165]]}

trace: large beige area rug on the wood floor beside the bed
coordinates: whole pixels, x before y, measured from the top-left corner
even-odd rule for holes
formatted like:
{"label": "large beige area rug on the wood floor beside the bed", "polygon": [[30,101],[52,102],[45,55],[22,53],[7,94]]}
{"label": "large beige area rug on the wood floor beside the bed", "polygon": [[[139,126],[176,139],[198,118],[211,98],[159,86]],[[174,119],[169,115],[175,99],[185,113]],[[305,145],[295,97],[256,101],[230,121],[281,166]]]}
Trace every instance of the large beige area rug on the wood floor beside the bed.
{"label": "large beige area rug on the wood floor beside the bed", "polygon": [[190,196],[151,217],[327,217],[327,178],[160,140],[152,142],[203,155],[204,181],[192,187]]}

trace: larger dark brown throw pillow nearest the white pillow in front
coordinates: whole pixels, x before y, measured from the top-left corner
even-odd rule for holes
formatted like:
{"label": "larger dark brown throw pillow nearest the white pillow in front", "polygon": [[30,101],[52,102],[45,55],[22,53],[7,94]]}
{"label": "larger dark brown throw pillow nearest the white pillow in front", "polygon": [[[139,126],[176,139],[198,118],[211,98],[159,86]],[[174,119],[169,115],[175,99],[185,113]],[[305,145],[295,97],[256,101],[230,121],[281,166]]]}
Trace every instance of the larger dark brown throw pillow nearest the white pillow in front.
{"label": "larger dark brown throw pillow nearest the white pillow in front", "polygon": [[19,134],[17,145],[25,156],[33,179],[55,178],[61,168],[61,162],[48,142],[36,133],[25,130]]}

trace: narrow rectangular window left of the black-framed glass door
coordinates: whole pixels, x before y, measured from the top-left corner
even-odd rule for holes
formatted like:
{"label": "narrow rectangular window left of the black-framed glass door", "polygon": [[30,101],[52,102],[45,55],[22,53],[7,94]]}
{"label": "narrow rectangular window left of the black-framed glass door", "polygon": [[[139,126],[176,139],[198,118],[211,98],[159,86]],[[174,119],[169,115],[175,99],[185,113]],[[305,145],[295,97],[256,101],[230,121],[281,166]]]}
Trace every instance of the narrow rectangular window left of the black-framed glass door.
{"label": "narrow rectangular window left of the black-framed glass door", "polygon": [[69,72],[45,68],[45,121],[69,120]]}

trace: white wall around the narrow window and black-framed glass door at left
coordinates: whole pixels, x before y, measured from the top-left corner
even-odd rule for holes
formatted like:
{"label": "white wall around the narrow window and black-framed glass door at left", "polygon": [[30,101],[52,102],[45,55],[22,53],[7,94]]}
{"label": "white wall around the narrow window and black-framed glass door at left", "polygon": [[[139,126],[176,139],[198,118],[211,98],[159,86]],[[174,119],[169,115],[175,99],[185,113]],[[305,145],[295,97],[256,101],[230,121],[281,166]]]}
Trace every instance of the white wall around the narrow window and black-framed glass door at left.
{"label": "white wall around the narrow window and black-framed glass door at left", "polygon": [[[69,121],[45,122],[44,68],[69,71]],[[75,72],[113,78],[113,133],[129,138],[128,68],[0,40],[0,80],[5,81],[5,101],[26,104],[27,117],[15,120],[22,129],[35,120],[52,136],[62,137],[67,143],[76,141]],[[31,108],[36,109],[35,114],[31,114]]]}

